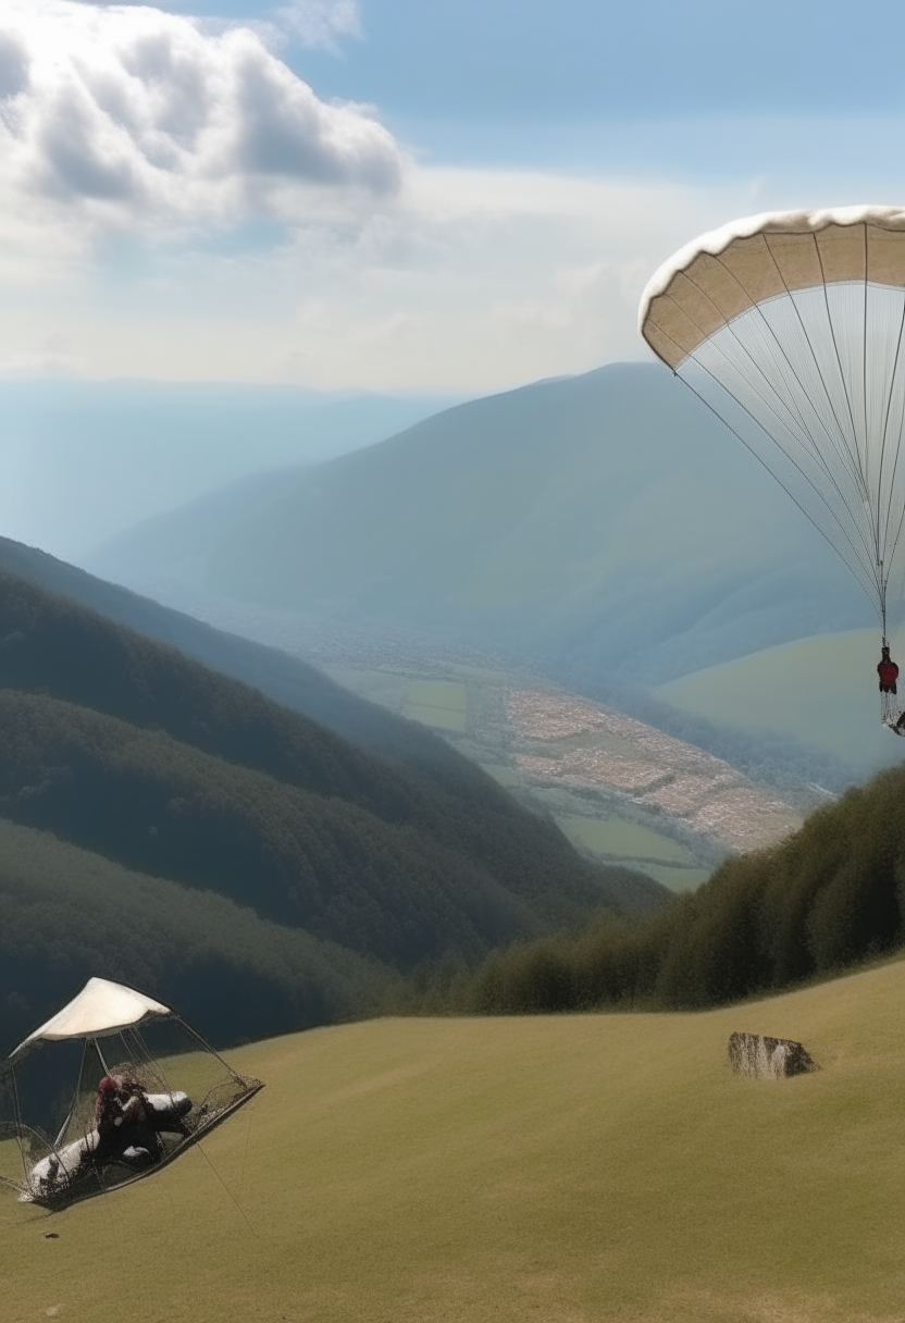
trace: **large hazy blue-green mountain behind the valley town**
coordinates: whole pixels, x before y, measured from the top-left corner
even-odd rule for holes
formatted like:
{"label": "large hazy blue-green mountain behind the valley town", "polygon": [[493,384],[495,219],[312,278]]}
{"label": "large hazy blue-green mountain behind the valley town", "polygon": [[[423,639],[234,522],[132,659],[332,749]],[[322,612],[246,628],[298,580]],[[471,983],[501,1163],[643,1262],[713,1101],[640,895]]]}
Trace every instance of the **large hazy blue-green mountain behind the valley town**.
{"label": "large hazy blue-green mountain behind the valley town", "polygon": [[585,688],[601,673],[663,683],[872,614],[773,479],[646,364],[472,401],[236,484],[91,564],[168,601],[206,591],[503,647]]}

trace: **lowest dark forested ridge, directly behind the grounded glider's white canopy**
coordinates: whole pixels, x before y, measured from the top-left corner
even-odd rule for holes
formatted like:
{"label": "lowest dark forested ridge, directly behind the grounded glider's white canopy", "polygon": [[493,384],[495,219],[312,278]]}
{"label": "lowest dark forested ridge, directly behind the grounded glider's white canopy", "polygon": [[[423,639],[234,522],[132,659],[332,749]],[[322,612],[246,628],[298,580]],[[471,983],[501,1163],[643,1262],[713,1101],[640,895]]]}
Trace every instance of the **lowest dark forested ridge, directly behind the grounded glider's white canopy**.
{"label": "lowest dark forested ridge, directly behind the grounded glider's white canopy", "polygon": [[0,818],[0,1056],[93,975],[177,1005],[226,1045],[361,1015],[390,971]]}

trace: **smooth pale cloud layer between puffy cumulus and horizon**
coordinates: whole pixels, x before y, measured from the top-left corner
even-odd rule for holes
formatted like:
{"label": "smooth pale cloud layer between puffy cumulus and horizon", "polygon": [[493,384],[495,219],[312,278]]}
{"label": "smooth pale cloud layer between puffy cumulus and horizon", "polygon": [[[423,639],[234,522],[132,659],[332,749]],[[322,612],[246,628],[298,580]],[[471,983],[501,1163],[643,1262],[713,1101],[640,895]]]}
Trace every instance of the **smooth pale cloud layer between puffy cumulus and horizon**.
{"label": "smooth pale cloud layer between puffy cumulus and horizon", "polygon": [[[482,392],[646,356],[638,296],[742,188],[413,171],[355,225],[257,251],[169,246],[87,287],[7,287],[0,364],[53,333],[89,376]],[[782,200],[778,200],[782,202]],[[29,357],[32,356],[32,357]]]}

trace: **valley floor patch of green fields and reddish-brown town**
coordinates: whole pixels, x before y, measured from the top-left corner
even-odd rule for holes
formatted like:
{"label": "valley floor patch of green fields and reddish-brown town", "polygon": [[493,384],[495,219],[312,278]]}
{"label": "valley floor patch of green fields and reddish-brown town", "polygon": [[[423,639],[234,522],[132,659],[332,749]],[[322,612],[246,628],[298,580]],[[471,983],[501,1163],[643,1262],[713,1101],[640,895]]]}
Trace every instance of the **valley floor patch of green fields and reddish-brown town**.
{"label": "valley floor patch of green fields and reddish-brown town", "polygon": [[[329,665],[340,684],[433,726],[580,849],[673,890],[782,839],[798,808],[728,763],[529,675],[464,663]],[[811,806],[812,807],[812,806]]]}

